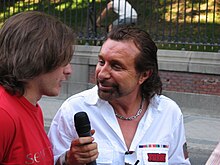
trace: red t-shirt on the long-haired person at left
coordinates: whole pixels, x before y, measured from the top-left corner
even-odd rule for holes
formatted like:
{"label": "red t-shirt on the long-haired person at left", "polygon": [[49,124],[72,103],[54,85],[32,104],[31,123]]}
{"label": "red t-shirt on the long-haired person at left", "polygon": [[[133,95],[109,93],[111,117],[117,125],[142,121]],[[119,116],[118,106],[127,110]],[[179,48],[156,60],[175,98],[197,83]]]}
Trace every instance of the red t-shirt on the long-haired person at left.
{"label": "red t-shirt on the long-haired person at left", "polygon": [[42,110],[0,86],[0,164],[53,165]]}

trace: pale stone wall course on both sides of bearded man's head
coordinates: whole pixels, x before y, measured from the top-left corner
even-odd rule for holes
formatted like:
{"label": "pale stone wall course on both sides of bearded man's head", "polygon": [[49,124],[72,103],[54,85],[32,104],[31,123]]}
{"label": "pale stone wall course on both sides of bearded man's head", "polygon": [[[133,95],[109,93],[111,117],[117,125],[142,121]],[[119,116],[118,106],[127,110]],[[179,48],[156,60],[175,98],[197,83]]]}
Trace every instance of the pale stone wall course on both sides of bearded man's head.
{"label": "pale stone wall course on both sides of bearded man's head", "polygon": [[[96,65],[100,46],[76,45],[72,64]],[[220,53],[158,50],[160,70],[220,74]]]}

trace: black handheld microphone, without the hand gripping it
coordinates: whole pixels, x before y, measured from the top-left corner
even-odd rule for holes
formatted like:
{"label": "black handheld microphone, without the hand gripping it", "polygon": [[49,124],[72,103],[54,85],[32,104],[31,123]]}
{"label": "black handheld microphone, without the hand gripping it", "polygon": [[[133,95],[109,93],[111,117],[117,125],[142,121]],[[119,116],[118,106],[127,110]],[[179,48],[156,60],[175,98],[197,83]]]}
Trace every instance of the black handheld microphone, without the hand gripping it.
{"label": "black handheld microphone, without the hand gripping it", "polygon": [[[89,117],[86,112],[78,112],[74,116],[75,128],[79,137],[91,136],[91,126]],[[96,165],[96,161],[92,161],[87,165]]]}

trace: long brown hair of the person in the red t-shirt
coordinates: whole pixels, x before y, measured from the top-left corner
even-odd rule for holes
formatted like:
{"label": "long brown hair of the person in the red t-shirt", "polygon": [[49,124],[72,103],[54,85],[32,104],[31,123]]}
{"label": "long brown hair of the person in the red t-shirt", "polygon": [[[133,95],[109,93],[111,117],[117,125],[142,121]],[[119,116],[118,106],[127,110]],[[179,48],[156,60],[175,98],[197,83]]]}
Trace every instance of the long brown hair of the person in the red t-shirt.
{"label": "long brown hair of the person in the red t-shirt", "polygon": [[53,16],[28,11],[10,17],[0,29],[0,85],[23,95],[34,77],[68,64],[73,31]]}

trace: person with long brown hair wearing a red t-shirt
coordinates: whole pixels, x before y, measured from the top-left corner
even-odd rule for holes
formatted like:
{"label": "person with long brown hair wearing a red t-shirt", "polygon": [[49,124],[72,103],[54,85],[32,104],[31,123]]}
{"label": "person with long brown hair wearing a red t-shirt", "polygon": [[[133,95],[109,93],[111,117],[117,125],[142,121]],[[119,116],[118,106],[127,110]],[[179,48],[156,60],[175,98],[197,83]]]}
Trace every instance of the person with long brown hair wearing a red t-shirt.
{"label": "person with long brown hair wearing a red t-shirt", "polygon": [[0,164],[53,165],[38,104],[71,74],[74,34],[58,19],[28,11],[0,29]]}

